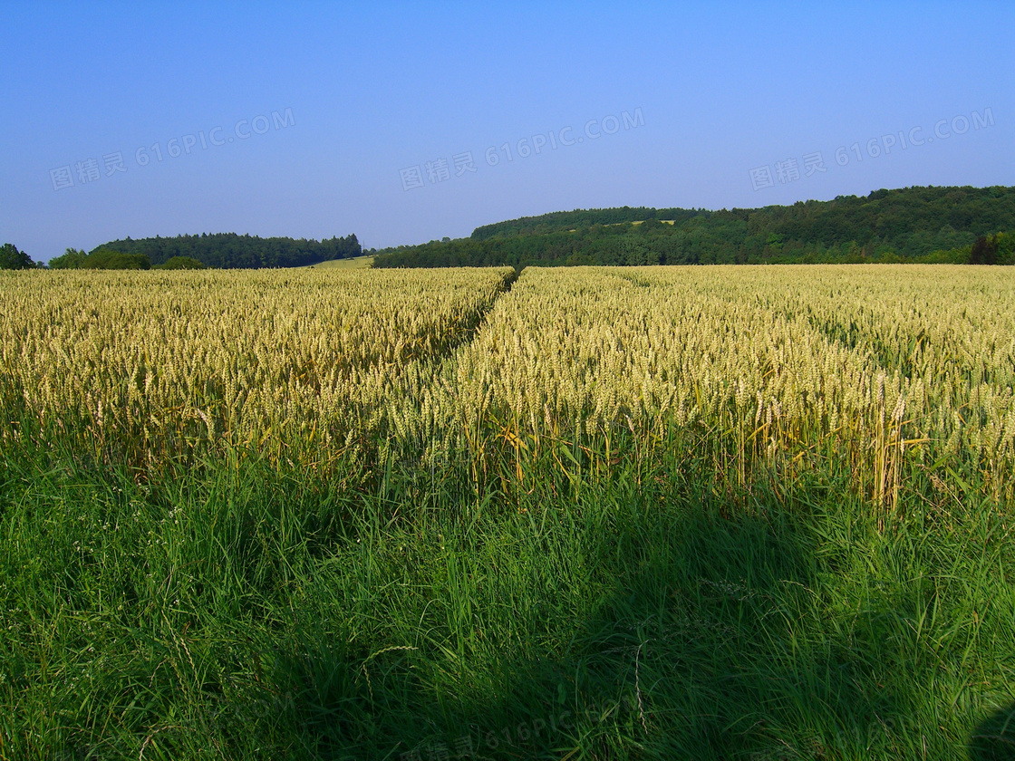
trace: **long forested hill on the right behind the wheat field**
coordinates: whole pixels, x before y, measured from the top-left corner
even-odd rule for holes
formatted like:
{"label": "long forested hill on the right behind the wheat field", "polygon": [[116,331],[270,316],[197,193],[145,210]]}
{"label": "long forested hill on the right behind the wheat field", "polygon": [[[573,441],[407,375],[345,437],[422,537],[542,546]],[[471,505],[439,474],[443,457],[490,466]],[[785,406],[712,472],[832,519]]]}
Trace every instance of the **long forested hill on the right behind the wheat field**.
{"label": "long forested hill on the right behind the wheat field", "polygon": [[758,209],[554,212],[384,249],[374,267],[1013,264],[1012,230],[1015,188],[904,188]]}

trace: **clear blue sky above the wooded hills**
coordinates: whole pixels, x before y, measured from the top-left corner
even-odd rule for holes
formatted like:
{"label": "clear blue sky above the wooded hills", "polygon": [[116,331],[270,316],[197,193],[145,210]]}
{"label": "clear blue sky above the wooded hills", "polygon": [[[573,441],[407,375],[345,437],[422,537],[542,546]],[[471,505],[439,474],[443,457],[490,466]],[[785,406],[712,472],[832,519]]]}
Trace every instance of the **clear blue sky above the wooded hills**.
{"label": "clear blue sky above the wooded hills", "polygon": [[0,9],[0,243],[37,261],[1015,185],[1010,0]]}

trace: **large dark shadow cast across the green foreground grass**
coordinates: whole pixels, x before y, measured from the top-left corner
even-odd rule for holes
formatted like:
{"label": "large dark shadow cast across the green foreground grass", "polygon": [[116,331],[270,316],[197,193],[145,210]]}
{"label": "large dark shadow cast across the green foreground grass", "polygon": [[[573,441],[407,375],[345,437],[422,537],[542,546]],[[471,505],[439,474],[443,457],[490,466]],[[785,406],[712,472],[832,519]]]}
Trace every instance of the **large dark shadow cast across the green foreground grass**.
{"label": "large dark shadow cast across the green foreground grass", "polygon": [[[276,683],[296,696],[286,710],[301,728],[300,753],[404,761],[904,753],[894,729],[907,706],[886,687],[905,663],[891,653],[894,614],[861,606],[844,617],[849,629],[827,615],[835,602],[816,579],[818,538],[806,520],[637,498],[583,509],[595,520],[553,534],[542,560],[531,555],[557,582],[585,572],[609,590],[577,594],[573,609],[587,611],[578,620],[549,615],[559,601],[534,568],[535,606],[517,615],[532,619],[519,628],[535,636],[521,646],[510,634],[497,641],[490,627],[494,641],[471,661],[449,658],[450,644],[393,649],[373,659],[368,680],[350,676],[365,673],[361,653],[336,660],[326,641],[276,661],[292,667]],[[475,602],[482,627],[483,601]]]}

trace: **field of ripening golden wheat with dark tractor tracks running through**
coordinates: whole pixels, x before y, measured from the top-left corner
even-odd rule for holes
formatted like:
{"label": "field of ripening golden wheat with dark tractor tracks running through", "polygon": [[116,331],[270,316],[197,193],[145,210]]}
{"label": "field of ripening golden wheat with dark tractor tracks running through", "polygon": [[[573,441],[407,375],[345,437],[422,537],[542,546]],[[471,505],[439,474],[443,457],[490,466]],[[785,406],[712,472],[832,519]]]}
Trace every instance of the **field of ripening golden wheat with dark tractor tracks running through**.
{"label": "field of ripening golden wheat with dark tractor tracks running through", "polygon": [[[323,467],[651,458],[673,436],[753,469],[838,458],[1011,497],[1015,285],[1004,269],[766,266],[0,277],[2,436],[139,468],[221,446]],[[576,457],[577,456],[577,457]],[[905,467],[903,467],[903,465]],[[954,482],[953,482],[954,483]],[[943,487],[947,488],[947,487]]]}

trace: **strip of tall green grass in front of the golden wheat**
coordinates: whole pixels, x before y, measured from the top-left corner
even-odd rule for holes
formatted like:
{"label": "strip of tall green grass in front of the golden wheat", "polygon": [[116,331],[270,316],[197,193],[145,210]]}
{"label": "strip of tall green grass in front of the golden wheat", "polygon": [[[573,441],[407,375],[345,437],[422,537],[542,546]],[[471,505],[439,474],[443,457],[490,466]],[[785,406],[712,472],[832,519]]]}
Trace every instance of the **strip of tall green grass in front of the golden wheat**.
{"label": "strip of tall green grass in front of the golden wheat", "polygon": [[7,453],[0,758],[1011,757],[1010,509],[354,477]]}

